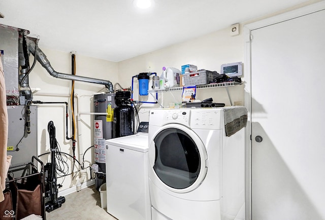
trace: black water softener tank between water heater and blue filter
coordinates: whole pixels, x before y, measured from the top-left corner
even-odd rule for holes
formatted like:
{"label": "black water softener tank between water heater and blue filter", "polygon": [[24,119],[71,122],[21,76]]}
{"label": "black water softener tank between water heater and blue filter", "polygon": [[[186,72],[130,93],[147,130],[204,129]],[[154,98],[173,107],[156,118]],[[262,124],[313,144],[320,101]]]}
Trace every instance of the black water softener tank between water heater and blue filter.
{"label": "black water softener tank between water heater and blue filter", "polygon": [[113,137],[134,134],[134,109],[129,98],[131,98],[131,91],[119,91],[115,94]]}

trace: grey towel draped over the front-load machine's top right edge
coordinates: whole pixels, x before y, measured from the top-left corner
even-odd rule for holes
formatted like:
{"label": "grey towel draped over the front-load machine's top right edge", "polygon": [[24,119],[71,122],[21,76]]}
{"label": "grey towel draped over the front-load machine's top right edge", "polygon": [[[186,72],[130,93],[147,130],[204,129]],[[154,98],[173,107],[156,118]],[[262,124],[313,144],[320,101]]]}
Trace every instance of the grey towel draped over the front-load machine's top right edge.
{"label": "grey towel draped over the front-load machine's top right edge", "polygon": [[246,127],[248,111],[244,106],[223,107],[224,129],[226,136],[230,137],[237,131]]}

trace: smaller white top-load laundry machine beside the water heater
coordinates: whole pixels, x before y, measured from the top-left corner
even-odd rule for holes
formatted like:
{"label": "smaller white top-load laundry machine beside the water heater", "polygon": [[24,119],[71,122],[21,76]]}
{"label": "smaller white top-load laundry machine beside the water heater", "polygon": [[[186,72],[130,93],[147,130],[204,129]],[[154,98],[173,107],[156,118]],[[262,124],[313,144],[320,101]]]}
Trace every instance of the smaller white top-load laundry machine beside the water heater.
{"label": "smaller white top-load laundry machine beside the water heater", "polygon": [[107,212],[120,220],[151,219],[148,122],[138,133],[106,140]]}

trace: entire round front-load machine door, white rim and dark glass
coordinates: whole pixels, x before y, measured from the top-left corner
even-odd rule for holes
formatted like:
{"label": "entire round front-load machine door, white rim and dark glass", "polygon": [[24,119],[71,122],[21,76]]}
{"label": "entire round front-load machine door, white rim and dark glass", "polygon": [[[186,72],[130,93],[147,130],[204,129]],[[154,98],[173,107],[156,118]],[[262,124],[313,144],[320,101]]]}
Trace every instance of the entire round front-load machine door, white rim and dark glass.
{"label": "entire round front-load machine door, white rim and dark glass", "polygon": [[191,129],[165,125],[155,133],[149,148],[151,167],[168,190],[186,193],[200,186],[207,174],[207,152]]}

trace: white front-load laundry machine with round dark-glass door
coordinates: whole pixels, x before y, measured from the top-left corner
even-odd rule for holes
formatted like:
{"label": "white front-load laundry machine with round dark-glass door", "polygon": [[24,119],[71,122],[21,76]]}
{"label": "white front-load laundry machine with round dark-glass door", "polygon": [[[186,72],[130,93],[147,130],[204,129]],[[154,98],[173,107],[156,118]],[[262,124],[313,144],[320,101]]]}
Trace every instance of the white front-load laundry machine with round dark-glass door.
{"label": "white front-load laundry machine with round dark-glass door", "polygon": [[223,119],[223,108],[150,110],[152,219],[244,219],[244,131],[226,137]]}

